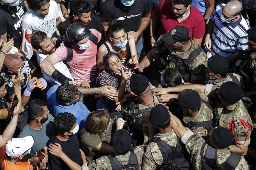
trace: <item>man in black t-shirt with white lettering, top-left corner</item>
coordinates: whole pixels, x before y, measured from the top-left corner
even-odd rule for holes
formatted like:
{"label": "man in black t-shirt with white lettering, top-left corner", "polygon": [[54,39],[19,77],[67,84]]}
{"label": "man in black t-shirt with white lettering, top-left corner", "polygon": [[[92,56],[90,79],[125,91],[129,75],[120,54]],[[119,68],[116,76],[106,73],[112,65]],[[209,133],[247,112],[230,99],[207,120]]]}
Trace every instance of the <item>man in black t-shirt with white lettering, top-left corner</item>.
{"label": "man in black t-shirt with white lettering, top-left corner", "polygon": [[21,20],[27,12],[26,6],[22,0],[1,0],[0,1],[0,36],[6,39],[6,36],[13,32],[14,46],[20,47],[21,41]]}

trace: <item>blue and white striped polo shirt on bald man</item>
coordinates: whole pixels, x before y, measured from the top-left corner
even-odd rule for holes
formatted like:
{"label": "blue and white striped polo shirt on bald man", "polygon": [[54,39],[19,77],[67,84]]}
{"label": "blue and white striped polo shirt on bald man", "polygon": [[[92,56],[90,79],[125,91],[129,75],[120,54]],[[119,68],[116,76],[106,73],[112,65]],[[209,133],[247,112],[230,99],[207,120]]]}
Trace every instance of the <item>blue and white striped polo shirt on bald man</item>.
{"label": "blue and white striped polo shirt on bald man", "polygon": [[248,34],[250,28],[246,20],[241,16],[234,23],[223,24],[220,16],[226,4],[219,4],[210,19],[214,22],[211,35],[211,55],[221,55],[229,58],[237,50],[244,51],[247,48]]}

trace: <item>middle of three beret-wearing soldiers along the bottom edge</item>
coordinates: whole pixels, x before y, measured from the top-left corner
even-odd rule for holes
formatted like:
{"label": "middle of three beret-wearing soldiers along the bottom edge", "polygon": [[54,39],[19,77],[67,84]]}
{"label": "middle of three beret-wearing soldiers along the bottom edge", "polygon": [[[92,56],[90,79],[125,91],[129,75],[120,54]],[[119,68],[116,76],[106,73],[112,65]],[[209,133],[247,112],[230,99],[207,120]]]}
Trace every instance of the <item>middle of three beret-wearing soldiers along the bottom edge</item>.
{"label": "middle of three beret-wearing soldiers along the bottom edge", "polygon": [[[160,140],[162,140],[164,143],[167,143],[169,146],[173,148],[176,148],[179,143],[177,135],[174,133],[174,131],[170,127],[170,113],[167,110],[167,108],[164,105],[158,104],[152,108],[150,113],[143,114],[142,119],[143,121],[150,122],[150,124],[155,126],[159,130],[159,133],[157,133],[152,139],[154,142],[151,142],[147,146],[147,150],[143,155],[141,169],[142,170],[156,169],[157,166],[160,166],[160,169],[168,169],[168,168],[175,169],[174,167],[176,166],[178,168],[188,169],[189,164],[184,157],[174,158],[176,159],[177,162],[168,160],[172,163],[169,165],[168,164],[166,165],[165,159],[168,159],[169,157],[168,158],[164,157],[166,155],[163,155],[163,152],[167,152],[168,150],[161,151],[159,144],[154,140],[155,138],[160,138]],[[151,130],[149,131],[150,131],[150,134],[154,133],[154,131],[151,131]],[[180,147],[178,152],[183,152],[183,151],[185,151],[185,148]],[[170,154],[175,155],[174,151],[171,152]]]}

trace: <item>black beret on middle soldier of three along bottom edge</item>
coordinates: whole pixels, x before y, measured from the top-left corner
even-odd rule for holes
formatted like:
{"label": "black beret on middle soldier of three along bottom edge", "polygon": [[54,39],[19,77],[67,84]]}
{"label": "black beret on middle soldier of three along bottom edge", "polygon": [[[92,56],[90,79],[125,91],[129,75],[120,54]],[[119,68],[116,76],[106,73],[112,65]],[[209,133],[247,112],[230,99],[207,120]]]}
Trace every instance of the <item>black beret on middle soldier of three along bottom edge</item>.
{"label": "black beret on middle soldier of three along bottom edge", "polygon": [[168,109],[164,105],[156,105],[150,111],[149,122],[153,125],[166,124],[170,120]]}

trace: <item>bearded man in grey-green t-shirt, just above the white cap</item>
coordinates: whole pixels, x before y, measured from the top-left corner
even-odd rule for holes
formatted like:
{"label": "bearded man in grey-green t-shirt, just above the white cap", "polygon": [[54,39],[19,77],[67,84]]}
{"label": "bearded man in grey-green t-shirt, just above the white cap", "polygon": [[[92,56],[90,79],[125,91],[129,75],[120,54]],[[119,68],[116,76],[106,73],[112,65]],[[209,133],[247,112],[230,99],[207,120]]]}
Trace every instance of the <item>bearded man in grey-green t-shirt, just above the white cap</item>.
{"label": "bearded man in grey-green t-shirt, just above the white cap", "polygon": [[40,161],[35,156],[36,152],[45,146],[52,135],[55,135],[53,124],[54,117],[48,113],[49,110],[45,100],[35,99],[31,101],[28,105],[28,116],[30,120],[18,136],[18,138],[23,138],[28,135],[33,136],[35,142],[31,148],[30,155],[35,163]]}

